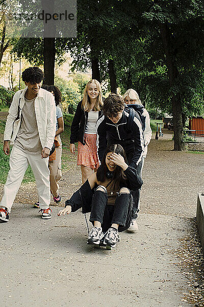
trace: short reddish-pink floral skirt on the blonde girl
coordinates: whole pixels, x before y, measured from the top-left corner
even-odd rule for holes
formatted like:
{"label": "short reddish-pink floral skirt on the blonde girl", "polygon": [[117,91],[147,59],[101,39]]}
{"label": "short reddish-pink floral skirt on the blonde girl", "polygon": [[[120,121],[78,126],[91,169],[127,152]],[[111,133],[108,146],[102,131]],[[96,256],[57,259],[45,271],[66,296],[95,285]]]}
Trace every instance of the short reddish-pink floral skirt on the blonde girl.
{"label": "short reddish-pink floral skirt on the blonde girl", "polygon": [[86,144],[78,142],[78,165],[84,165],[92,169],[98,168],[96,135],[84,134]]}

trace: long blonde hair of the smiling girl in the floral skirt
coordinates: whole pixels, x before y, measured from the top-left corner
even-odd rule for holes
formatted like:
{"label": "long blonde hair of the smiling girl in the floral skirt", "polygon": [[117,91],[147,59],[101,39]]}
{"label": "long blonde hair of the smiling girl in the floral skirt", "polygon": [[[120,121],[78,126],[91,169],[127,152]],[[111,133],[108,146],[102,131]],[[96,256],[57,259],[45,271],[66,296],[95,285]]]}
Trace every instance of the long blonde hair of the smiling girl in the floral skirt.
{"label": "long blonde hair of the smiling girl in the floral skirt", "polygon": [[101,107],[104,105],[104,103],[103,103],[103,100],[102,100],[102,92],[101,92],[100,83],[95,79],[90,80],[86,84],[85,91],[84,91],[84,97],[83,97],[83,100],[82,100],[82,108],[86,112],[89,112],[90,109],[91,109],[91,102],[90,102],[90,98],[89,98],[89,95],[88,95],[88,89],[89,89],[90,83],[95,83],[97,90],[98,90],[98,96],[96,98],[96,103],[94,104],[92,111],[100,111]]}

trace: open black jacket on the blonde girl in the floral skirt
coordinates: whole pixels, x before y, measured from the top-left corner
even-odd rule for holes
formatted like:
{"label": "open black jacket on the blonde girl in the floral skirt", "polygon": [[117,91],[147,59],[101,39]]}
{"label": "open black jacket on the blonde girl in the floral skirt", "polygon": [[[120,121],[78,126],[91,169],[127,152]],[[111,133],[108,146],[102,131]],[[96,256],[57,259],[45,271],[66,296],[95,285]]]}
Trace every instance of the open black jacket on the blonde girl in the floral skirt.
{"label": "open black jacket on the blonde girl in the floral skirt", "polygon": [[[98,118],[101,116],[102,111],[98,112]],[[71,124],[71,135],[70,144],[75,144],[75,142],[80,141],[85,145],[84,133],[86,128],[86,123],[88,120],[88,112],[82,109],[82,100],[78,103],[76,112],[74,114],[72,124]]]}

